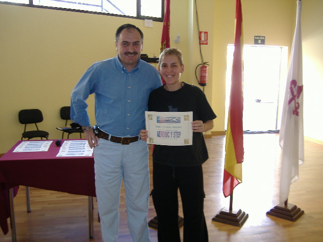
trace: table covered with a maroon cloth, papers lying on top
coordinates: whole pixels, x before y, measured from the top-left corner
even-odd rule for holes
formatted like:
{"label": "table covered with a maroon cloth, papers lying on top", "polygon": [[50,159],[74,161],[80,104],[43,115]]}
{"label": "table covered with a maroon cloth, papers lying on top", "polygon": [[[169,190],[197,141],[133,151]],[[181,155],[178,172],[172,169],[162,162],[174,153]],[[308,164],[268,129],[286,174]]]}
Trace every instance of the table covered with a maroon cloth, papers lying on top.
{"label": "table covered with a maroon cloth, papers lying on top", "polygon": [[[0,158],[0,224],[6,234],[8,217],[5,214],[8,207],[4,193],[9,189],[12,241],[16,241],[13,188],[19,185],[88,196],[89,235],[90,238],[93,237],[92,209],[93,197],[96,196],[93,155],[92,157],[56,157],[60,147],[56,146],[56,140],[52,141],[47,152],[13,153],[13,150],[24,142],[18,141]],[[64,141],[62,140],[62,143]]]}

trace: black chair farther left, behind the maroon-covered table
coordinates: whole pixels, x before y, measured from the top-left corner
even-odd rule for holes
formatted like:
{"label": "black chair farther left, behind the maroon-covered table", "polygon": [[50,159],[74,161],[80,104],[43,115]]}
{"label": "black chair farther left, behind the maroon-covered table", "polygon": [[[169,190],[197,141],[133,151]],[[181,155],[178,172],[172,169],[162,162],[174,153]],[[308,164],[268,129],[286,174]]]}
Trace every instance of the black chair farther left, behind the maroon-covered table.
{"label": "black chair farther left, behind the maroon-covered table", "polygon": [[[45,138],[48,140],[48,132],[42,131],[38,129],[37,123],[42,122],[43,117],[42,113],[39,109],[23,109],[19,111],[19,122],[20,124],[25,125],[24,133],[22,133],[23,138],[27,138],[28,140],[32,138]],[[28,124],[35,124],[37,130],[26,131]]]}

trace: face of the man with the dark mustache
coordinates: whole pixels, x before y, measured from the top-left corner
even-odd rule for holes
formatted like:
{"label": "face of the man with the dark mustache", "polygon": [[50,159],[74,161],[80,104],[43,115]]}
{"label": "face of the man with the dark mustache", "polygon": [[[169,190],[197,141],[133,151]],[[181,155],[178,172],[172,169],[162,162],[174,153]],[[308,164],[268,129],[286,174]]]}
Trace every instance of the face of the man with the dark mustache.
{"label": "face of the man with the dark mustache", "polygon": [[128,71],[137,65],[142,50],[142,39],[138,30],[125,28],[121,31],[116,49],[118,50],[119,60]]}

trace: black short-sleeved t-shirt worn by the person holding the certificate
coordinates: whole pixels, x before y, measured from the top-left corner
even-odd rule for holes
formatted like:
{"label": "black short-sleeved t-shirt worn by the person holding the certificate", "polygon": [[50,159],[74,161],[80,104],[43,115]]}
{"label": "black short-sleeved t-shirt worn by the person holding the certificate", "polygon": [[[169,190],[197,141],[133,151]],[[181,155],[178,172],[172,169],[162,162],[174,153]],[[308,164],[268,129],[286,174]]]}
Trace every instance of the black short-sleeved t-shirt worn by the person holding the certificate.
{"label": "black short-sleeved t-shirt worn by the person holding the certificate", "polygon": [[[203,123],[217,117],[201,89],[187,83],[177,91],[167,91],[164,86],[153,90],[148,109],[157,112],[193,111],[193,120],[202,120]],[[153,162],[170,166],[200,165],[208,159],[203,133],[193,132],[192,145],[155,145],[152,158]]]}

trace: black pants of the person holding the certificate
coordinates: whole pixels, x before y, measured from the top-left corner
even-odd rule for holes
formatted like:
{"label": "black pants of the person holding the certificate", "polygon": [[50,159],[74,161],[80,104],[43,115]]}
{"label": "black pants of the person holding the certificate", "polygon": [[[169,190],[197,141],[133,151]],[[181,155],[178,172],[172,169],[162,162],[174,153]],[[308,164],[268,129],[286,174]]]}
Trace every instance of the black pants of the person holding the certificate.
{"label": "black pants of the person holding the certificate", "polygon": [[153,163],[152,200],[158,220],[158,242],[180,242],[178,189],[184,214],[184,242],[208,241],[203,213],[202,166],[172,167]]}

